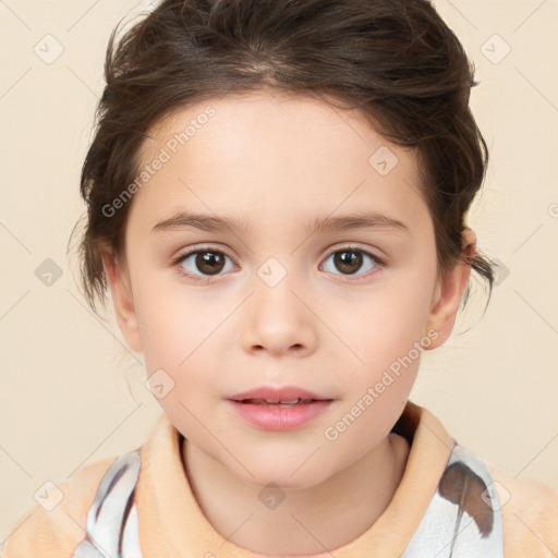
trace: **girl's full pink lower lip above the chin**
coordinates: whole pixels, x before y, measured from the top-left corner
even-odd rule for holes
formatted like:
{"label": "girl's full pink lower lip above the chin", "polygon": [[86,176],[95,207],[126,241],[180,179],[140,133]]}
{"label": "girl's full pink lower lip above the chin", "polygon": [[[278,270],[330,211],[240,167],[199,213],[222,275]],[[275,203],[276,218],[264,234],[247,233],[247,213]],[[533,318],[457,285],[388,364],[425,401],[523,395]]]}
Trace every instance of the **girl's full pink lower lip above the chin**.
{"label": "girl's full pink lower lip above the chin", "polygon": [[234,410],[248,423],[265,430],[292,430],[310,423],[319,416],[332,402],[331,400],[313,401],[312,403],[292,407],[254,405],[229,400]]}

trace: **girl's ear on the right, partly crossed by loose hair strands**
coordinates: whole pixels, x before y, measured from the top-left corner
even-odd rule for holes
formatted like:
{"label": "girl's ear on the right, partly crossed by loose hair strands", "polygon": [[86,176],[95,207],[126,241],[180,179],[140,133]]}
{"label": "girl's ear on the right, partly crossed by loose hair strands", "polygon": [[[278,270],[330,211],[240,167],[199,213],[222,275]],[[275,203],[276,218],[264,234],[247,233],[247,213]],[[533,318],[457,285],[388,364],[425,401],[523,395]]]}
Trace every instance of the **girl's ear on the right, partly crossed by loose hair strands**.
{"label": "girl's ear on the right, partly crossed by loose hair strands", "polygon": [[[476,235],[471,229],[465,229],[462,233],[462,252],[468,257],[473,257],[476,250]],[[425,349],[435,349],[446,342],[451,335],[456,323],[456,315],[459,310],[461,296],[471,276],[471,265],[457,264],[447,269],[444,276],[438,279],[432,303],[432,310],[428,317],[426,331],[434,330],[438,332],[436,340]]]}

